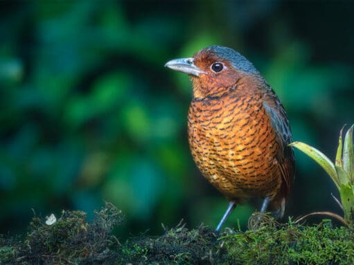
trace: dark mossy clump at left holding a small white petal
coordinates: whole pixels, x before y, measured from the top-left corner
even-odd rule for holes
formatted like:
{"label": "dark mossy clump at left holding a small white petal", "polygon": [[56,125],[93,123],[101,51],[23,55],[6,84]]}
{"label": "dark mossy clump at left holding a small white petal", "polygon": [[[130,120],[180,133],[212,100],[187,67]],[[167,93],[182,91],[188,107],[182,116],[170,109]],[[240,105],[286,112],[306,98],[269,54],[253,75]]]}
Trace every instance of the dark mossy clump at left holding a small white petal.
{"label": "dark mossy clump at left holding a small white petal", "polygon": [[123,217],[111,203],[87,223],[85,212],[63,211],[52,225],[33,217],[24,241],[1,241],[1,264],[99,264],[114,258],[112,230]]}

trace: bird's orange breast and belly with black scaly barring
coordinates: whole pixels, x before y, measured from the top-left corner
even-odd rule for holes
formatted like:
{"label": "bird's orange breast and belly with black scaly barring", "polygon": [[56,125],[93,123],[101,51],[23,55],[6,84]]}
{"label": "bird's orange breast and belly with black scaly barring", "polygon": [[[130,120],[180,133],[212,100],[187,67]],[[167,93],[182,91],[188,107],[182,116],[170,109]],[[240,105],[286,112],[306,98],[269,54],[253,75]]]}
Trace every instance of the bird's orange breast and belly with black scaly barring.
{"label": "bird's orange breast and belly with black scaly barring", "polygon": [[261,94],[193,100],[188,140],[197,167],[228,199],[274,197],[281,188],[279,146]]}

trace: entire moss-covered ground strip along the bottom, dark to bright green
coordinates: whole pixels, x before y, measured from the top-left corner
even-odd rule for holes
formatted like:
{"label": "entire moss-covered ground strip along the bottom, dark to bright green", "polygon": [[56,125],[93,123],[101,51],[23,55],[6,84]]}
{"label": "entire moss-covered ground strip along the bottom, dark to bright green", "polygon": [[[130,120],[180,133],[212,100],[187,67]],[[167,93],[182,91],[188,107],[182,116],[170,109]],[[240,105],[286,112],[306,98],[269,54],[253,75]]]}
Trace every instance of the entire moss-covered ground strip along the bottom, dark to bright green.
{"label": "entire moss-covered ground strip along the bottom, dark to bright green", "polygon": [[[163,227],[161,236],[139,235],[125,243],[112,232],[122,213],[111,203],[86,222],[80,211],[63,211],[53,225],[38,217],[23,241],[0,237],[0,264],[353,264],[353,228],[334,227],[329,220],[317,226],[292,221],[280,224],[258,215],[253,230],[226,228],[215,235],[200,225]],[[118,229],[119,234],[119,229]]]}

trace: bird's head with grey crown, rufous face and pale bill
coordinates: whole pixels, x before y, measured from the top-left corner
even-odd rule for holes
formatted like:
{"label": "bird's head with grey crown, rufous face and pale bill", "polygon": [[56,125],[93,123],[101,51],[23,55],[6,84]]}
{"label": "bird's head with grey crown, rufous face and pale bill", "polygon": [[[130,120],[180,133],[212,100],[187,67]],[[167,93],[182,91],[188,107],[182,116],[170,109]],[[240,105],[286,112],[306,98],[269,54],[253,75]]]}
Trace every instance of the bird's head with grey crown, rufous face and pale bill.
{"label": "bird's head with grey crown, rufous face and pale bill", "polygon": [[259,74],[249,60],[223,46],[208,46],[191,58],[171,60],[165,66],[191,76],[194,98],[223,95],[242,76]]}

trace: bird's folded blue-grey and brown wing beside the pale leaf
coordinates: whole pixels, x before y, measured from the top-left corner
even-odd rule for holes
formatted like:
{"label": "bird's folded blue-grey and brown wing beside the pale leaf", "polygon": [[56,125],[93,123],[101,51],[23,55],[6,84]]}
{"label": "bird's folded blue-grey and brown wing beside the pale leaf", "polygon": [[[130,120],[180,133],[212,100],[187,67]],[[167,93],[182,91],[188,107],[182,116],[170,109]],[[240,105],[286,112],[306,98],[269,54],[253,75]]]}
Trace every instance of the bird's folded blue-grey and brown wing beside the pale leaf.
{"label": "bird's folded blue-grey and brown wing beside the pale leaf", "polygon": [[292,132],[283,104],[270,86],[263,93],[263,107],[272,122],[278,145],[281,147],[276,158],[286,186],[284,190],[286,196],[289,194],[294,180],[294,150],[288,146],[292,143]]}

